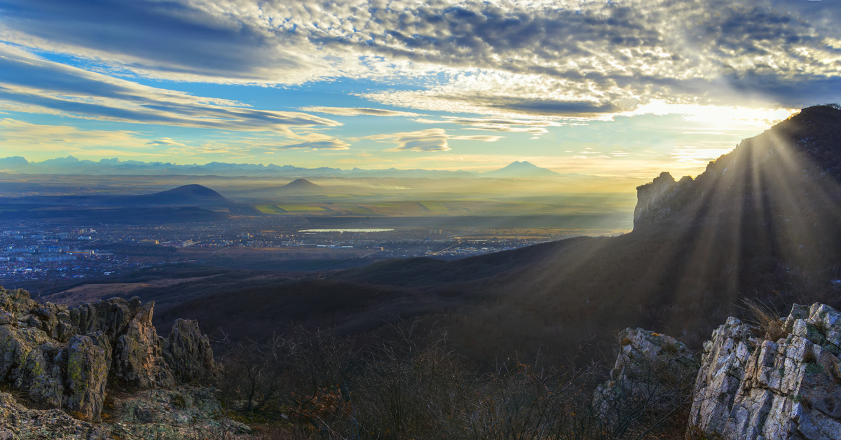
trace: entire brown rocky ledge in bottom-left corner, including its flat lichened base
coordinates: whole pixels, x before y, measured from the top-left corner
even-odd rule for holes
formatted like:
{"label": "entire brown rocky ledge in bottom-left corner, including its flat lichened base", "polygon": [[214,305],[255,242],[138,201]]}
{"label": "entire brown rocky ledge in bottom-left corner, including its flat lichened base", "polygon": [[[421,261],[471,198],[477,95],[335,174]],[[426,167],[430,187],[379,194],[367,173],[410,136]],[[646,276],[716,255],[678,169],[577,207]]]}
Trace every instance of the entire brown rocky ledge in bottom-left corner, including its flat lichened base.
{"label": "entire brown rocky ledge in bottom-left corner, including its flat lichened base", "polygon": [[215,368],[198,323],[177,320],[158,337],[153,309],[136,297],[69,309],[0,288],[0,440],[247,430],[225,421],[214,390],[195,386]]}

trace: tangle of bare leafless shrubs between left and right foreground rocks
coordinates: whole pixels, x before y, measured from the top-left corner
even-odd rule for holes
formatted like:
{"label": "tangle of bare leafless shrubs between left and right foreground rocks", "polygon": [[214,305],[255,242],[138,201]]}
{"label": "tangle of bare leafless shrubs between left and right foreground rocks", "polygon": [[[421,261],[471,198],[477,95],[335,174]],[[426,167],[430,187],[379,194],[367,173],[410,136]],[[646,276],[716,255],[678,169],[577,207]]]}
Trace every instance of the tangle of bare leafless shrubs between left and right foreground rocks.
{"label": "tangle of bare leafless shrubs between left and right foreground rocks", "polygon": [[[241,374],[231,395],[243,411],[251,390],[258,390],[249,414],[262,423],[255,432],[260,440],[611,440],[685,431],[680,415],[690,390],[669,364],[640,365],[644,377],[638,379],[653,383],[648,394],[630,391],[638,384],[620,384],[627,398],[614,400],[606,416],[594,406],[604,378],[598,364],[547,366],[512,358],[483,373],[456,353],[447,331],[421,332],[415,325],[394,326],[388,339],[362,348],[320,332],[290,339],[274,340],[276,349],[233,344],[235,356],[225,358],[257,363],[226,371]],[[240,348],[250,354],[237,354]],[[265,359],[275,359],[274,353],[283,353],[275,365],[283,371],[267,374]]]}

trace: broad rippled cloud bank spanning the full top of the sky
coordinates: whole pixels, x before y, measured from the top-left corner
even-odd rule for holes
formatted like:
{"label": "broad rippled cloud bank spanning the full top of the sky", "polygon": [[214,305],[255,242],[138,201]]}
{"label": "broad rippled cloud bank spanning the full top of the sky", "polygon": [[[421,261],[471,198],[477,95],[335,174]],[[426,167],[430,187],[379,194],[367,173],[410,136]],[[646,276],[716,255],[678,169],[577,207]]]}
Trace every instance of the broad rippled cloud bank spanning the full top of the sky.
{"label": "broad rippled cloud bank spanning the full top of the sky", "polygon": [[653,100],[800,108],[839,98],[841,4],[740,3],[4,0],[0,40],[177,81],[411,78],[414,90],[363,96],[487,115],[600,119]]}

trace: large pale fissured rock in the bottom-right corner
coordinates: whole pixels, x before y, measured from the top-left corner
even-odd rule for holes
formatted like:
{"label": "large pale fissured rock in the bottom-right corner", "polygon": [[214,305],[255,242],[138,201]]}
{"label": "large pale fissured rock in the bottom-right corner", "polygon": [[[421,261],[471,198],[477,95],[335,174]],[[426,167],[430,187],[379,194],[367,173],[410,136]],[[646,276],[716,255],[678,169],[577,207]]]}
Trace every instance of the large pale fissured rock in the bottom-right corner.
{"label": "large pale fissured rock in the bottom-right corner", "polygon": [[[706,342],[690,431],[726,439],[841,438],[841,314],[795,305],[776,341],[730,318]],[[738,382],[738,387],[735,383]]]}

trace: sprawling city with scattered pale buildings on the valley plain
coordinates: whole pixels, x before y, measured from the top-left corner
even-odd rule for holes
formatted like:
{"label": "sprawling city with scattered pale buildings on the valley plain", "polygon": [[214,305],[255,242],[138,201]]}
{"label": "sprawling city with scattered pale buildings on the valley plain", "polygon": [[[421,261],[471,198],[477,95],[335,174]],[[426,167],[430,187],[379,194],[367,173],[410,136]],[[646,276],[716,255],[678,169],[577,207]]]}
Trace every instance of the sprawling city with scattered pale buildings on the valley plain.
{"label": "sprawling city with scattered pale buildings on the valley plain", "polygon": [[6,221],[0,222],[0,284],[46,292],[185,262],[318,270],[393,257],[458,259],[578,235],[579,231],[486,227],[308,227],[303,218],[84,227]]}

